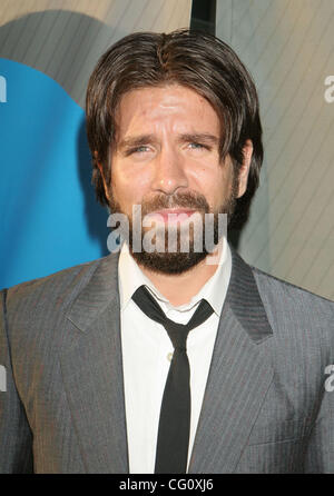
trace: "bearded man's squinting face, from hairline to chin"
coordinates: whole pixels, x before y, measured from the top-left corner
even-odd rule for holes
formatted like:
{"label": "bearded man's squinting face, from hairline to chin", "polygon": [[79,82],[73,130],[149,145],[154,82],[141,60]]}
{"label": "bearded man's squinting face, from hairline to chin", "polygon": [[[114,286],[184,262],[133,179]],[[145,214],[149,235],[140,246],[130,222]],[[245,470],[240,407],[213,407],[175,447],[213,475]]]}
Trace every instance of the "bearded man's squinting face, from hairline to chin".
{"label": "bearded man's squinting face, from hairline to chin", "polygon": [[[185,218],[196,214],[203,221],[205,212],[232,212],[245,181],[235,177],[229,157],[219,160],[220,123],[206,99],[178,85],[132,90],[121,98],[116,120],[107,189],[111,211],[126,214],[131,226],[132,206],[141,205],[143,218],[149,215],[165,228],[170,214]],[[169,274],[184,271],[207,255],[144,251],[134,254],[138,262]]]}

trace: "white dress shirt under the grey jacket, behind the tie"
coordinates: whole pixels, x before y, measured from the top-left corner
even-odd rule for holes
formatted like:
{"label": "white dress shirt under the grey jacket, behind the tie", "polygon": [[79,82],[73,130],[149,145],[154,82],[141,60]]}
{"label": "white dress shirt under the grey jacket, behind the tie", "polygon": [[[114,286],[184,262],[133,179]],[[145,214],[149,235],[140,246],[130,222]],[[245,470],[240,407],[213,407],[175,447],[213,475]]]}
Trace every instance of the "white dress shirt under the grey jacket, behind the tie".
{"label": "white dress shirt under the grey jacket, behind the tie", "polygon": [[126,424],[130,474],[154,474],[161,399],[173,356],[173,344],[161,324],[147,317],[131,299],[146,285],[166,316],[187,324],[205,298],[212,316],[189,331],[187,354],[190,365],[190,436],[188,464],[202,409],[214,344],[232,270],[230,250],[224,238],[220,262],[215,274],[189,304],[174,307],[140,270],[128,246],[119,256],[119,295]]}

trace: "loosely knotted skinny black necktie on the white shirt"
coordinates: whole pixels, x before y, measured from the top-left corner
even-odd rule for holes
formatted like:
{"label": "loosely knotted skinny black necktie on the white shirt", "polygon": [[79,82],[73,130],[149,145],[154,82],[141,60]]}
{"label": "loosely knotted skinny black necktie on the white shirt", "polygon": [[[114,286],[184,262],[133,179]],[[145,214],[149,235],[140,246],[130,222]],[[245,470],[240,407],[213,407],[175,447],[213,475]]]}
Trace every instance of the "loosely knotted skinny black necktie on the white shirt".
{"label": "loosely knotted skinny black necktie on the white shirt", "polygon": [[132,299],[144,314],[163,324],[174,346],[160,409],[155,474],[186,474],[190,430],[190,368],[186,341],[189,330],[203,324],[214,310],[203,299],[184,325],[166,317],[145,286],[136,290]]}

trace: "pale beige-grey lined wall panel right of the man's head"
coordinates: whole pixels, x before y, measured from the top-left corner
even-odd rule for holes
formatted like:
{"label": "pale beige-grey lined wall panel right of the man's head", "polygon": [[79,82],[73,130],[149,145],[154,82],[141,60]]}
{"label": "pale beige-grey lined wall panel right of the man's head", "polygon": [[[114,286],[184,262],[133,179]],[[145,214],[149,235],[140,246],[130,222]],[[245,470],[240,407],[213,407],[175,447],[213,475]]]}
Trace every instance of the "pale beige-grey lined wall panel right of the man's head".
{"label": "pale beige-grey lined wall panel right of the man's head", "polygon": [[240,254],[330,299],[334,102],[324,81],[334,75],[333,26],[333,0],[217,0],[217,36],[250,70],[264,126],[262,186]]}

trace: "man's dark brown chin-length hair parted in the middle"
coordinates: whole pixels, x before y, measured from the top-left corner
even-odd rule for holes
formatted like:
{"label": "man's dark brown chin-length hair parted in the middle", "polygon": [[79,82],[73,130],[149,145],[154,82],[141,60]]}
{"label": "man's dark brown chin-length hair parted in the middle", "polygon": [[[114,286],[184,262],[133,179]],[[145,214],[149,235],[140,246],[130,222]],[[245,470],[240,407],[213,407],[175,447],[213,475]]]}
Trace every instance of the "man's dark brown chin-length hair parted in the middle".
{"label": "man's dark brown chin-length hair parted in the middle", "polygon": [[88,85],[87,135],[92,153],[92,183],[97,199],[108,205],[102,176],[110,185],[116,109],[129,90],[178,83],[188,87],[216,110],[220,120],[220,158],[229,153],[235,170],[243,162],[243,148],[253,141],[253,158],[245,195],[237,200],[233,225],[247,218],[258,186],[263,161],[262,127],[255,85],[237,54],[226,43],[199,31],[177,30],[168,34],[129,34],[98,61]]}

